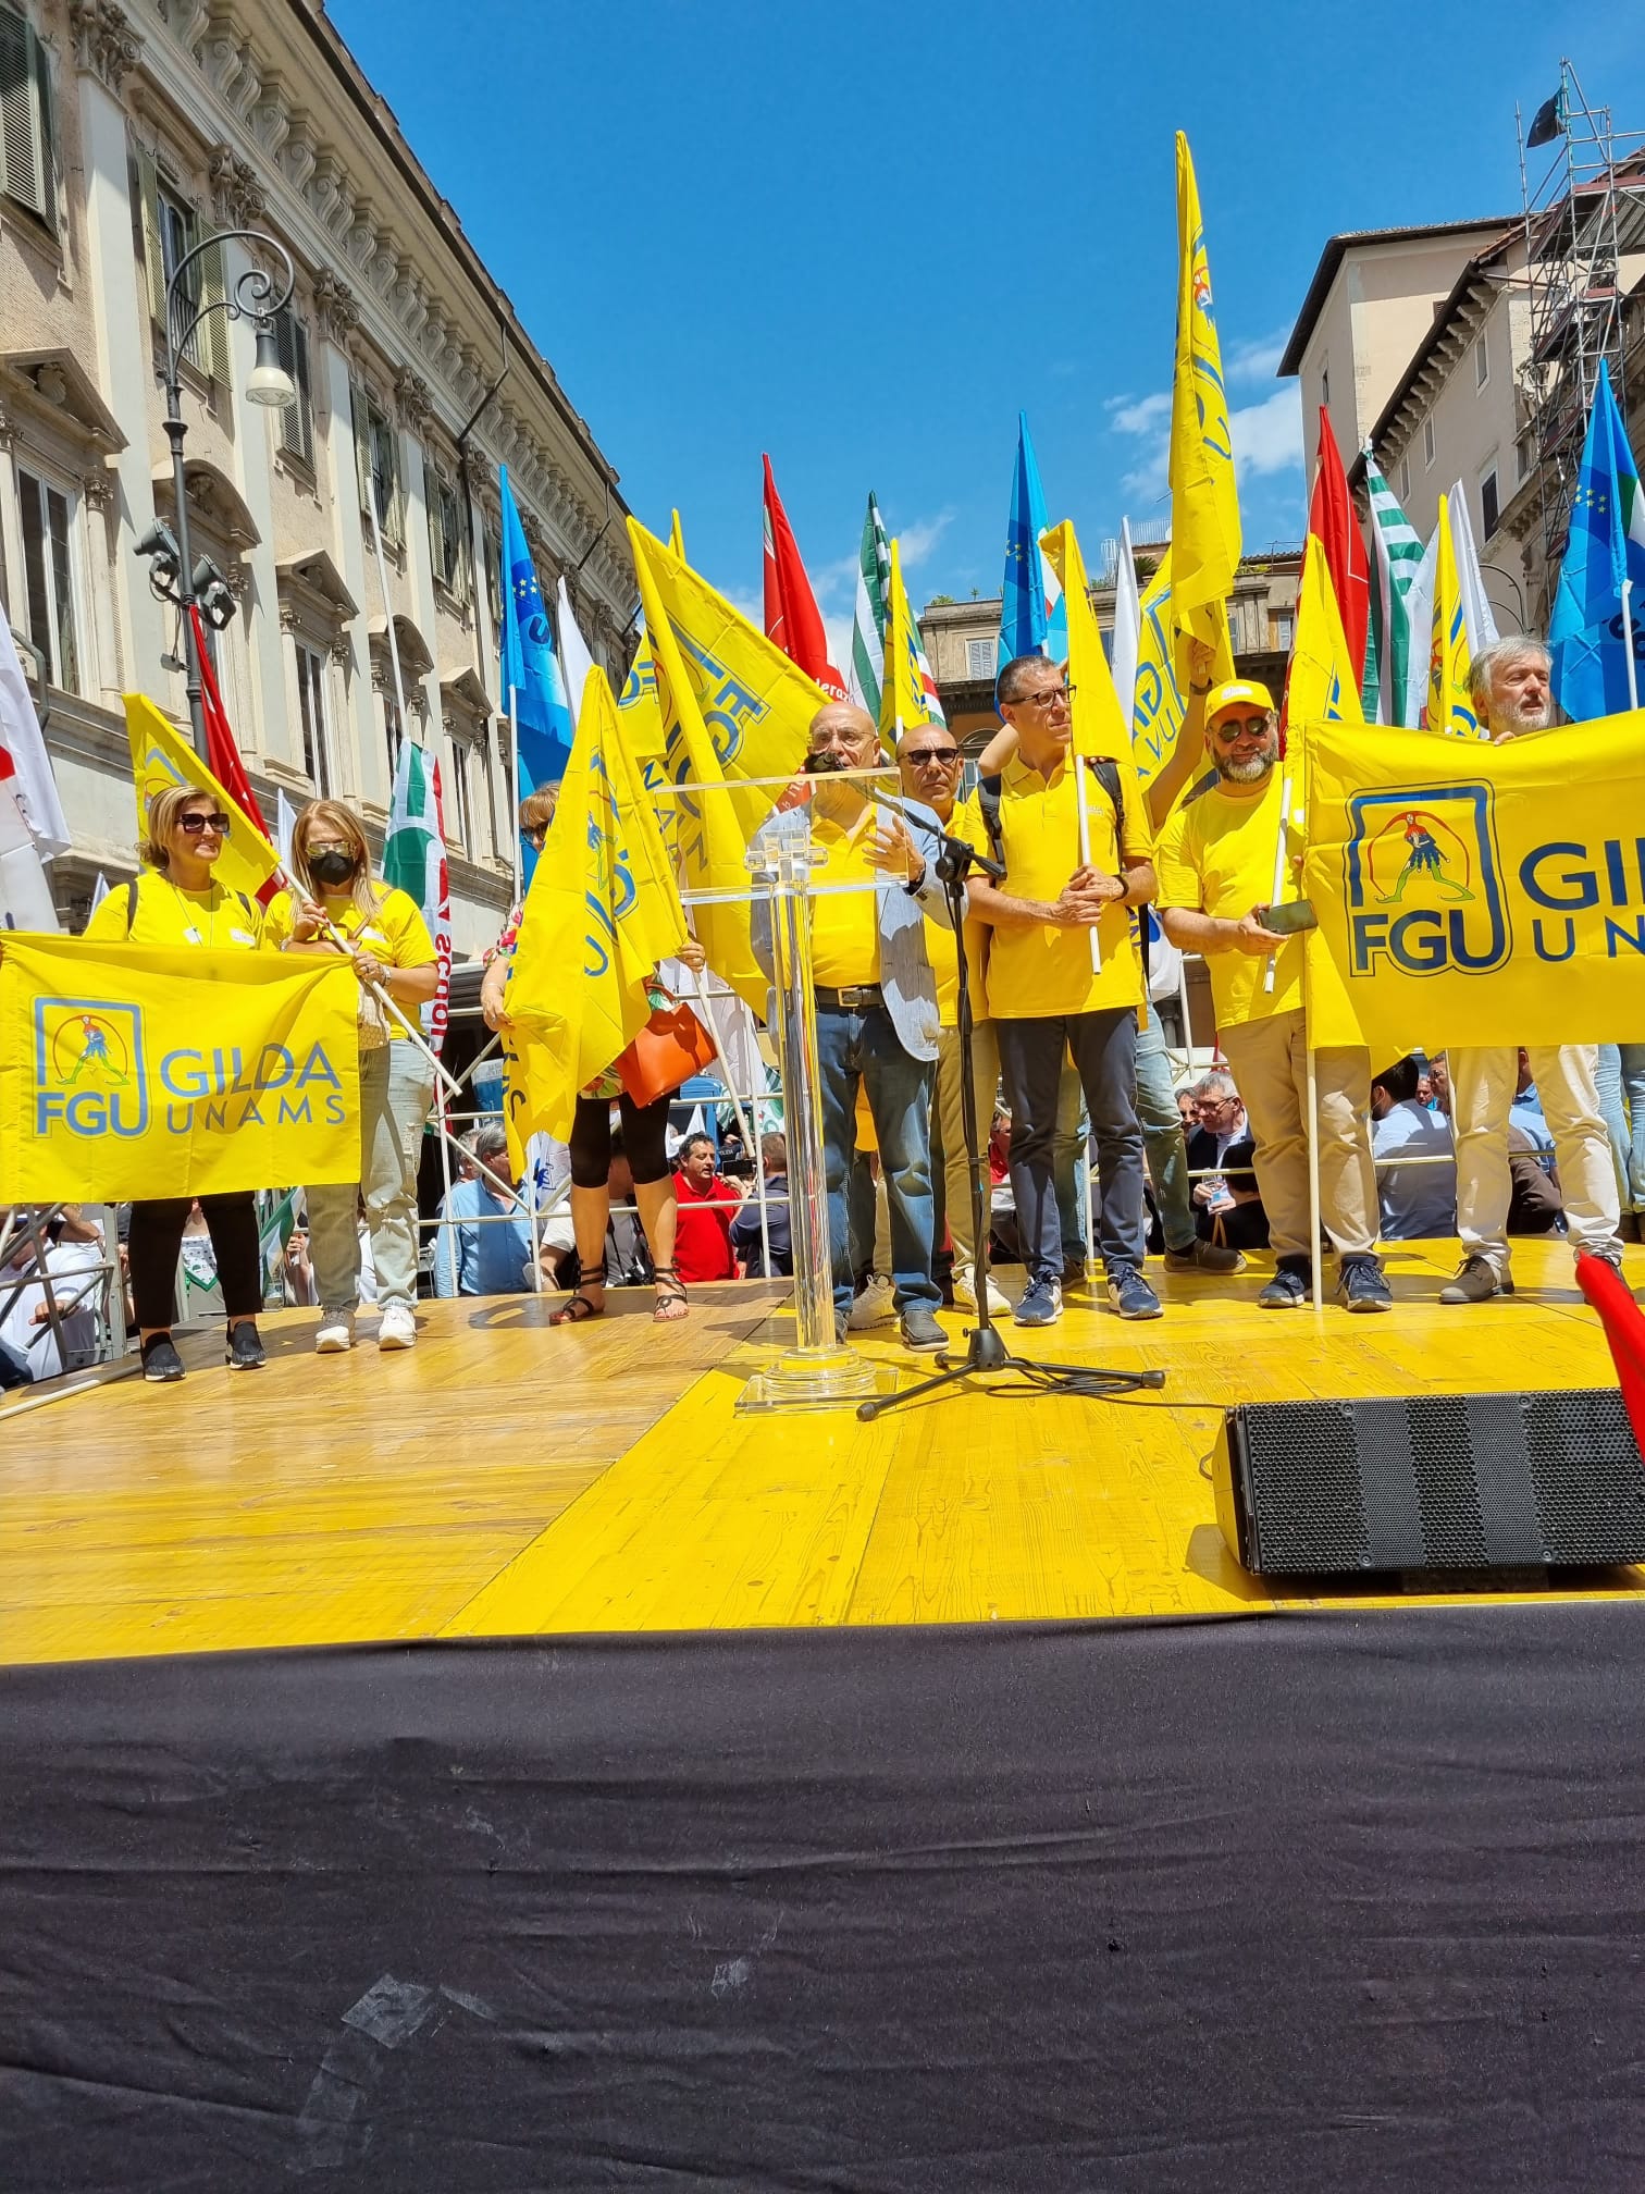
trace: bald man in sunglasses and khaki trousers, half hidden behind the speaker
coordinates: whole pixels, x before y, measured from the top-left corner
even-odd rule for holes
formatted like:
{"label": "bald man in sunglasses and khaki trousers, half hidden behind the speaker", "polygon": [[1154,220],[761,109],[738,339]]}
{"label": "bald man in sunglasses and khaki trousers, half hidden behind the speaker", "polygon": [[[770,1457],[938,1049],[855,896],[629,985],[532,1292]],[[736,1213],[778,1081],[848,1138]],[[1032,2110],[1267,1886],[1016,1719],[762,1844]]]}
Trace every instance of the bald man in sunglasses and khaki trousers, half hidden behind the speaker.
{"label": "bald man in sunglasses and khaki trousers, half hidden behind the speaker", "polygon": [[[910,724],[897,746],[897,768],[901,788],[923,801],[937,821],[948,829],[958,799],[961,770],[965,757],[948,724]],[[987,845],[978,845],[987,853]],[[948,1231],[954,1237],[954,1301],[961,1310],[976,1310],[976,1290],[989,1290],[989,1310],[1005,1314],[1011,1305],[987,1277],[987,1237],[972,1240],[972,1161],[965,1152],[965,1110],[961,1101],[963,1060],[958,1049],[958,954],[954,932],[948,924],[926,924],[926,952],[937,976],[937,1134],[932,1136],[934,1158],[941,1158],[943,1207]],[[980,921],[965,924],[965,963],[972,994],[972,1088],[976,1093],[976,1130],[987,1136],[994,1121],[994,1097],[1000,1088],[1000,1049],[994,1042],[987,998],[983,996],[983,965],[987,957],[987,930]]]}

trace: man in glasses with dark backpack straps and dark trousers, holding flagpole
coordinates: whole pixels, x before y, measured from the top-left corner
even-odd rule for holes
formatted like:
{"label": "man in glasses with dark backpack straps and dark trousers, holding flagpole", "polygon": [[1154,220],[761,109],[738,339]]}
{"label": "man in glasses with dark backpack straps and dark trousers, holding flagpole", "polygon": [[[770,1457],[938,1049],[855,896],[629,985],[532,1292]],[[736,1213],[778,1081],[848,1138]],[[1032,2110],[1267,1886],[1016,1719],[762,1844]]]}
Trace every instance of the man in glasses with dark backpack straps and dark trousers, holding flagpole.
{"label": "man in glasses with dark backpack straps and dark trousers, holding flagpole", "polygon": [[[1143,1279],[1143,1130],[1136,1119],[1136,1009],[1143,961],[1132,908],[1154,893],[1154,845],[1130,755],[1086,761],[1090,860],[1079,856],[1070,689],[1044,656],[1016,656],[996,687],[1018,753],[998,779],[998,832],[980,792],[954,829],[1005,862],[972,878],[972,913],[994,930],[987,1000],[1011,1106],[1011,1187],[1029,1286],[1018,1325],[1062,1316],[1062,1222],[1051,1152],[1068,1053],[1086,1090],[1101,1172],[1099,1244],[1121,1319],[1158,1319]],[[1110,794],[1119,788],[1119,801]],[[991,781],[989,781],[991,805]],[[1092,937],[1097,954],[1092,954]]]}

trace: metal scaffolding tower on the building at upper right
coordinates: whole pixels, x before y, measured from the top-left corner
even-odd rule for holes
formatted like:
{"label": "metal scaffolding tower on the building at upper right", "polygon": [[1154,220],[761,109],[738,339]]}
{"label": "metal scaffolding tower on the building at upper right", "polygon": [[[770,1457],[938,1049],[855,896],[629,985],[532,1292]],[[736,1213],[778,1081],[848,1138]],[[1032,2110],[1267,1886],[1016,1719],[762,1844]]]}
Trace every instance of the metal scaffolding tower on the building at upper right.
{"label": "metal scaffolding tower on the building at upper right", "polygon": [[[1570,61],[1559,61],[1559,92],[1520,140],[1520,200],[1531,285],[1531,342],[1520,369],[1520,399],[1540,485],[1542,573],[1548,599],[1570,527],[1588,410],[1599,364],[1610,364],[1627,415],[1623,371],[1623,259],[1645,252],[1645,132],[1619,132],[1610,108],[1590,108]],[[1546,147],[1546,171],[1531,167]]]}

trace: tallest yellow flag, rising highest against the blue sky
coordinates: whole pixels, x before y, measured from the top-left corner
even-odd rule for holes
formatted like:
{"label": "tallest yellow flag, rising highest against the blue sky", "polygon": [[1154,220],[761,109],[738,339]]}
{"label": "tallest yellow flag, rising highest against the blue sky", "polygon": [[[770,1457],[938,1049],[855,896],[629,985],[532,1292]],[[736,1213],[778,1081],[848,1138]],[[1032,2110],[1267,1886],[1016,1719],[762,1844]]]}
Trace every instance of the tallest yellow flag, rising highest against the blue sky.
{"label": "tallest yellow flag, rising highest against the blue sky", "polygon": [[1239,494],[1235,489],[1228,393],[1211,305],[1211,268],[1200,219],[1189,140],[1176,138],[1176,373],[1171,380],[1171,568],[1176,621],[1215,641],[1213,603],[1239,570]]}

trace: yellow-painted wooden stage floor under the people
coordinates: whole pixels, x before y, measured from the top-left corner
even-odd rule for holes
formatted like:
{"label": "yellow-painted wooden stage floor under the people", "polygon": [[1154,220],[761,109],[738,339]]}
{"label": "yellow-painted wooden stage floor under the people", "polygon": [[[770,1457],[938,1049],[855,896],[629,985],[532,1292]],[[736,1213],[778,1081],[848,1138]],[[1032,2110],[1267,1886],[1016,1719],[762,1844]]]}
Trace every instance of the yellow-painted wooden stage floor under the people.
{"label": "yellow-painted wooden stage floor under the people", "polygon": [[[1316,1604],[1222,1545],[1206,1457],[1228,1404],[1614,1384],[1564,1244],[1516,1246],[1511,1303],[1441,1310],[1454,1264],[1454,1244],[1397,1248],[1395,1310],[1373,1319],[1259,1312],[1261,1259],[1162,1279],[1152,1325],[1075,1290],[1059,1325],[1011,1343],[1158,1367],[1160,1395],[974,1387],[877,1424],[735,1415],[792,1338],[781,1290],[755,1281],[697,1290],[669,1327],[638,1292],[557,1332],[546,1301],[430,1303],[399,1356],[366,1314],[364,1347],[316,1358],[314,1316],[287,1312],[268,1369],[241,1376],[193,1336],[180,1387],[112,1378],[0,1411],[0,1663]],[[930,1371],[895,1327],[860,1341],[910,1382]],[[1645,1593],[1645,1571],[1559,1588]]]}

